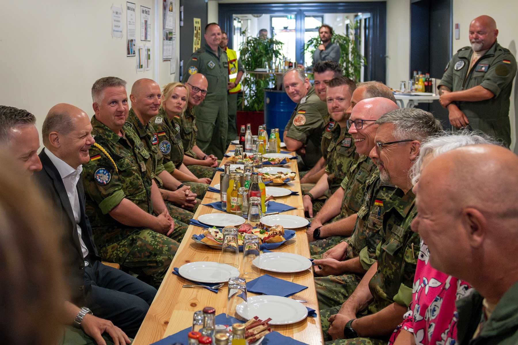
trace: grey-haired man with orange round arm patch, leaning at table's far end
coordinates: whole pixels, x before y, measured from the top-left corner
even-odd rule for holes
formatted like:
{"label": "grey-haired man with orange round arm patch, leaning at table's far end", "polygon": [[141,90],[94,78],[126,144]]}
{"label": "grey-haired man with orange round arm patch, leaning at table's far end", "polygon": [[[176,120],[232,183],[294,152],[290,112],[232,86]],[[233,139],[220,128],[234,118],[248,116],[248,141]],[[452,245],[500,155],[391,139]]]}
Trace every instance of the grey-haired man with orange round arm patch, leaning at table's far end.
{"label": "grey-haired man with orange round arm patch, leaning at table's far end", "polygon": [[302,159],[299,171],[307,171],[322,156],[320,143],[327,124],[327,104],[315,94],[314,86],[300,69],[284,72],[282,82],[288,97],[297,103],[284,128],[283,141],[288,151],[296,151]]}

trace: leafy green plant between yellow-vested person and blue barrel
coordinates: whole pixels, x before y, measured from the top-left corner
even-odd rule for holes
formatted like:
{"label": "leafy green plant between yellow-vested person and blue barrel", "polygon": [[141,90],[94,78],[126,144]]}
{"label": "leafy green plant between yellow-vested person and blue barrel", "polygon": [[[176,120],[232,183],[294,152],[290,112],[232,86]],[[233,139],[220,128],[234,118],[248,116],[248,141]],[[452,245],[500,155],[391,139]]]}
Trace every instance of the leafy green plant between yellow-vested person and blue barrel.
{"label": "leafy green plant between yellow-vested person and blue barrel", "polygon": [[[246,36],[246,31],[243,31],[242,35]],[[282,44],[274,38],[247,37],[239,49],[239,57],[244,69],[253,71],[256,68],[264,68],[265,63],[270,66],[272,62],[279,61],[283,58]],[[241,80],[244,98],[240,99],[238,107],[244,111],[262,111],[264,89],[270,87],[273,82],[275,82],[275,76],[272,74],[248,73],[247,77]]]}

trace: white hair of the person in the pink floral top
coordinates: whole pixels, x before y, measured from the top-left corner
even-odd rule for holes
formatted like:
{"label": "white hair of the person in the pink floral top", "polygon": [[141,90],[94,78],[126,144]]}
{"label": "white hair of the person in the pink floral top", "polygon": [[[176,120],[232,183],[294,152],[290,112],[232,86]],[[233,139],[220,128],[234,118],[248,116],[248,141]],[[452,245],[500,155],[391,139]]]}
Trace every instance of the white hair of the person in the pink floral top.
{"label": "white hair of the person in the pink floral top", "polygon": [[412,184],[415,185],[418,183],[419,177],[421,176],[423,161],[427,156],[431,155],[431,158],[434,158],[458,147],[477,144],[502,146],[501,142],[480,131],[443,131],[435,134],[434,136],[426,138],[421,143],[418,158],[413,163],[412,168],[410,168],[410,178],[412,179]]}

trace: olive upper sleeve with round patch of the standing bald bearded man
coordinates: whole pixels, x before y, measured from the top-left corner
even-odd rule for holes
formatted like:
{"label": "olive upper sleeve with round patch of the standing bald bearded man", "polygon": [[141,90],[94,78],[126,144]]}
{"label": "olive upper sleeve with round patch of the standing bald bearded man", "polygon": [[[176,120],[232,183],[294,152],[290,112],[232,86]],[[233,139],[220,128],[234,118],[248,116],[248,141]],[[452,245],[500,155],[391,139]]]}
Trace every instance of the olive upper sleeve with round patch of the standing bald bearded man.
{"label": "olive upper sleeve with round patch of the standing bald bearded man", "polygon": [[512,83],[516,75],[516,60],[512,54],[501,54],[484,74],[480,86],[498,97],[502,88]]}

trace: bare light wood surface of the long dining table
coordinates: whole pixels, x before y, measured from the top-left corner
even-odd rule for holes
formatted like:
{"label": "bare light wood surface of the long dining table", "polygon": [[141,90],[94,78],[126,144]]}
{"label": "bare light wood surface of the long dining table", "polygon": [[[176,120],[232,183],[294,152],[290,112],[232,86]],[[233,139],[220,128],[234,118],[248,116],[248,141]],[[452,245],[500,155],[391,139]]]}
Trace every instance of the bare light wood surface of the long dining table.
{"label": "bare light wood surface of the long dining table", "polygon": [[[228,149],[233,149],[234,145],[229,146]],[[293,154],[293,153],[292,153]],[[228,160],[225,158],[222,165]],[[304,207],[302,202],[302,193],[300,190],[300,182],[298,178],[297,162],[292,159],[289,163],[289,168],[297,172],[297,177],[284,187],[298,191],[298,196],[286,196],[276,198],[276,202],[285,203],[297,207],[291,211],[283,212],[282,214],[297,215],[304,217]],[[212,179],[211,186],[220,182],[220,175],[218,172]],[[219,201],[219,193],[207,192],[202,204]],[[195,219],[199,215],[207,213],[222,213],[216,209],[200,205],[195,213]],[[296,253],[306,258],[309,258],[308,238],[305,233],[305,228],[296,230],[295,238],[284,243],[279,248],[273,251],[283,251]],[[217,294],[207,289],[197,288],[182,288],[183,284],[189,284],[186,279],[171,274],[174,267],[180,267],[188,262],[197,261],[219,261],[221,251],[212,249],[208,246],[197,244],[191,238],[193,234],[203,233],[202,228],[189,226],[180,244],[174,260],[169,266],[169,273],[166,274],[158,293],[155,296],[151,307],[142,322],[140,329],[133,342],[134,345],[149,345],[155,341],[163,339],[169,335],[175,334],[186,327],[192,325],[193,313],[201,310],[206,306],[211,306],[216,309],[216,314],[225,312],[227,303],[227,288],[223,287]],[[322,328],[320,324],[320,314],[318,302],[316,300],[315,286],[313,282],[313,274],[309,270],[293,274],[283,274],[275,272],[262,271],[262,274],[269,274],[271,276],[292,281],[297,284],[307,286],[305,289],[293,296],[294,299],[306,299],[308,302],[305,306],[316,310],[317,316],[315,318],[306,318],[303,321],[291,325],[272,326],[274,331],[277,331],[285,336],[292,337],[299,341],[310,345],[323,344]],[[254,295],[249,293],[249,296]],[[282,312],[282,310],[279,310]],[[187,339],[185,339],[185,343]]]}

